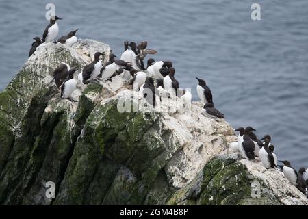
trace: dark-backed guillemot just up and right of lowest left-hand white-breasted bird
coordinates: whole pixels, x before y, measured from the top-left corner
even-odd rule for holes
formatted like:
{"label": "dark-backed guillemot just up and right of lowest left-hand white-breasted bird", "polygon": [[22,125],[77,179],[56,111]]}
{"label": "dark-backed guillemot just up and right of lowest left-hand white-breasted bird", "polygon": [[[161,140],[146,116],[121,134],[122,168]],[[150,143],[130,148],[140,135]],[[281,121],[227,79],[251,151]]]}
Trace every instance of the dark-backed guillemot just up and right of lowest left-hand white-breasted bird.
{"label": "dark-backed guillemot just up and right of lowest left-hand white-breasted bird", "polygon": [[[103,65],[101,64],[101,60],[99,60],[99,57],[101,55],[104,55],[105,53],[96,52],[94,54],[94,60],[90,64],[84,66],[84,69],[82,70],[82,82],[87,83],[86,81],[88,79],[94,79],[97,78],[97,76],[101,72],[101,68],[103,68]],[[78,79],[80,80],[80,74],[78,75]]]}

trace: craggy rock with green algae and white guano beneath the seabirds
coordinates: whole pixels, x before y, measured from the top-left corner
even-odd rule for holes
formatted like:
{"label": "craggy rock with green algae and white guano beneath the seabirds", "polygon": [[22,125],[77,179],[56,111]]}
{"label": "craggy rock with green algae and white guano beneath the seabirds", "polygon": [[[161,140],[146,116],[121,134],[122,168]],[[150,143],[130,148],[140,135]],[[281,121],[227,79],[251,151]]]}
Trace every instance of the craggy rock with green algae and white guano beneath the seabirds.
{"label": "craggy rock with green algae and white guano beneath the seabirds", "polygon": [[[110,48],[94,40],[42,45],[0,93],[1,204],[308,205],[278,170],[229,154],[233,129],[201,114],[201,103],[190,113],[119,112],[123,99],[139,103],[126,71],[79,84],[78,102],[61,99],[53,69],[82,68],[96,51],[106,62]],[[55,198],[45,196],[47,181]],[[256,181],[261,194],[253,198]]]}

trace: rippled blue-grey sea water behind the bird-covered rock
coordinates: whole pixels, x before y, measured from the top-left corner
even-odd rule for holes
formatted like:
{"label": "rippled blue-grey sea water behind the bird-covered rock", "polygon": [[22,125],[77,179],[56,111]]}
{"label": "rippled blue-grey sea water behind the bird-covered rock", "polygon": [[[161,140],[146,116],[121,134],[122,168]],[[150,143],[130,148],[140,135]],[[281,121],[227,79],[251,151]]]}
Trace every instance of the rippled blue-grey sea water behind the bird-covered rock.
{"label": "rippled blue-grey sea water behind the bird-covered rock", "polygon": [[[147,40],[194,99],[201,77],[233,127],[270,133],[279,159],[308,166],[307,0],[1,0],[0,90],[42,36],[47,3],[64,18],[60,36],[79,28],[77,37],[110,44],[118,57],[124,40]],[[252,3],[261,5],[261,21],[252,21]]]}

